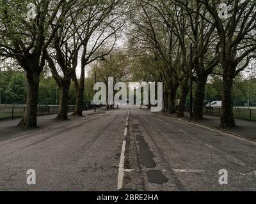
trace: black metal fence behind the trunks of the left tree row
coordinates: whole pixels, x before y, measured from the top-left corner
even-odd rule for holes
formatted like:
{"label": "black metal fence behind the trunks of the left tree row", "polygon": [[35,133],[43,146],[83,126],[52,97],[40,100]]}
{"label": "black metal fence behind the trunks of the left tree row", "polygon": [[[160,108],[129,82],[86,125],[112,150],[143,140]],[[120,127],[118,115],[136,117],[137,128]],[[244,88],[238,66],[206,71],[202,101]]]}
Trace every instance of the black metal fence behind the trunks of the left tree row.
{"label": "black metal fence behind the trunks of the left tree row", "polygon": [[[37,107],[37,115],[54,115],[58,113],[59,106],[45,105]],[[68,112],[73,112],[75,106],[68,106]],[[0,105],[0,119],[15,119],[22,117],[25,112],[24,105]]]}

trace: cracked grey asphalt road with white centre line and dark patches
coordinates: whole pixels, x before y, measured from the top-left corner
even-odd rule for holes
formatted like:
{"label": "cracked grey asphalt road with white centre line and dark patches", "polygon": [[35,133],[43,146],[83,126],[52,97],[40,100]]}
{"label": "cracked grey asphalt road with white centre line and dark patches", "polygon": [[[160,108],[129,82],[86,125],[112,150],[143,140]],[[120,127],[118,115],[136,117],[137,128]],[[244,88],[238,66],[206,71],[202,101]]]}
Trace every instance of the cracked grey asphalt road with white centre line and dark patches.
{"label": "cracked grey asphalt road with white centre line and dark patches", "polygon": [[256,190],[256,143],[138,106],[52,118],[29,130],[0,122],[1,191]]}

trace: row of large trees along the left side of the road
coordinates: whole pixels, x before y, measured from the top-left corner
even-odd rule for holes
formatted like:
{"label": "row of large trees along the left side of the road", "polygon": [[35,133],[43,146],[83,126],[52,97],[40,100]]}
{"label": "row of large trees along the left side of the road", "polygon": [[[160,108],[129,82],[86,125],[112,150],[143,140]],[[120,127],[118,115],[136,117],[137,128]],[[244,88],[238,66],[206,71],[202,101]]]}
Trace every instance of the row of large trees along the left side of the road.
{"label": "row of large trees along the left side of the road", "polygon": [[41,0],[34,2],[35,17],[26,19],[29,3],[0,1],[0,56],[3,61],[13,59],[26,72],[26,110],[19,126],[34,128],[45,68],[61,90],[57,119],[67,119],[71,81],[76,90],[74,115],[82,115],[85,66],[111,52],[128,8],[121,0]]}

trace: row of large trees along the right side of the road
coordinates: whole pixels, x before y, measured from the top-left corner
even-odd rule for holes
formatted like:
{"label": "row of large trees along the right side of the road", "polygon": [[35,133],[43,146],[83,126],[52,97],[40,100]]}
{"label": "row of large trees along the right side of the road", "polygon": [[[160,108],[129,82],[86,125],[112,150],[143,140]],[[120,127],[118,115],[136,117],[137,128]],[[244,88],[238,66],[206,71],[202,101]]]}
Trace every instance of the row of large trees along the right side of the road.
{"label": "row of large trees along the right side of the road", "polygon": [[144,76],[164,82],[164,104],[170,113],[177,111],[175,99],[180,89],[178,116],[184,115],[191,78],[196,83],[193,117],[203,119],[205,84],[217,74],[222,80],[221,128],[232,128],[236,125],[232,112],[234,78],[256,58],[256,3],[227,1],[227,16],[225,8],[219,9],[221,3],[136,1],[132,11],[137,15],[128,16],[128,32],[130,49],[140,56],[139,61],[148,64]]}

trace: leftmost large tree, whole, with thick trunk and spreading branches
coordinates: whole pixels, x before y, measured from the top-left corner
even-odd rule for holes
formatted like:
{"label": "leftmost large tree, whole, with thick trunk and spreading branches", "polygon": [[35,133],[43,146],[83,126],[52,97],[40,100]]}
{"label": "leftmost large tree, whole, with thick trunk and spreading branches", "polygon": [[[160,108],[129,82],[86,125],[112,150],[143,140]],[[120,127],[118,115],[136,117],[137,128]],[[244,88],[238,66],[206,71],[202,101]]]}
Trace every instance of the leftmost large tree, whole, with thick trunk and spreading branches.
{"label": "leftmost large tree, whole, with thick trunk and spreading branches", "polygon": [[[26,110],[19,126],[35,128],[40,73],[45,65],[45,50],[70,7],[76,0],[42,0],[36,4],[36,17],[26,20],[29,1],[1,0],[0,4],[0,55],[13,58],[26,71],[28,94]],[[56,28],[48,33],[51,24]]]}

